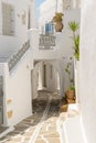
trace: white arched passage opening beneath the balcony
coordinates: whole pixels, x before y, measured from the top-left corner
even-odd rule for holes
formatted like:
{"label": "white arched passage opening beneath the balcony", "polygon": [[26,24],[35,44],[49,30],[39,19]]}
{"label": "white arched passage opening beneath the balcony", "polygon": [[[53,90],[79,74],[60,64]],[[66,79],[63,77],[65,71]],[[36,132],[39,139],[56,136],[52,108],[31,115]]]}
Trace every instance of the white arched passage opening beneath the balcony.
{"label": "white arched passage opening beneath the balcony", "polygon": [[60,92],[60,72],[55,62],[35,61],[32,72],[32,99],[40,90]]}

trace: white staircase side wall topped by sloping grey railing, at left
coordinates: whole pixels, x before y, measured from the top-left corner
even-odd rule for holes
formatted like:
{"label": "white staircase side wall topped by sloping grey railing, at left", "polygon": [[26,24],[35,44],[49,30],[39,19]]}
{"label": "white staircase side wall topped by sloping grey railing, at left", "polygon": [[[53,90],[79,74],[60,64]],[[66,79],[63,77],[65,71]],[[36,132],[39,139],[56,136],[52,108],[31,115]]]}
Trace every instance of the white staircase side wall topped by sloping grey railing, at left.
{"label": "white staircase side wall topped by sloping grey railing, at left", "polygon": [[[4,62],[0,62],[0,77],[3,79],[3,81],[0,79],[0,129],[1,127],[14,125],[23,118],[32,114],[31,52],[28,41],[21,48],[15,52],[12,51],[11,56],[7,56]],[[23,105],[21,107],[22,99]],[[9,130],[12,128],[1,130],[0,138]]]}

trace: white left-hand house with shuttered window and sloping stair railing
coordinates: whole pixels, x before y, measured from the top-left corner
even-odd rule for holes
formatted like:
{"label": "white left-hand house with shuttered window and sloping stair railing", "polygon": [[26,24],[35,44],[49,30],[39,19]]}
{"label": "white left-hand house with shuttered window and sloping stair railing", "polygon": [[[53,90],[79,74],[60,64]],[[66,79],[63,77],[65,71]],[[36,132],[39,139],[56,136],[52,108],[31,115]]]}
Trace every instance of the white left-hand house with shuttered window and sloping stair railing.
{"label": "white left-hand house with shuttered window and sloping stair railing", "polygon": [[0,1],[0,125],[13,125],[32,114],[32,58],[29,50],[29,29],[33,24],[32,2]]}

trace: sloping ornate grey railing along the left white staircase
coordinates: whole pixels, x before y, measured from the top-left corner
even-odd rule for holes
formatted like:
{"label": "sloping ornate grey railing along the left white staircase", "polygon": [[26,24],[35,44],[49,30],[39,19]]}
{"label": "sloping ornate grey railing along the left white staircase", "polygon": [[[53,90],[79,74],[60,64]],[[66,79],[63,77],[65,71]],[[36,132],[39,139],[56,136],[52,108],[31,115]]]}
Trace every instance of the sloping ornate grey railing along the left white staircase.
{"label": "sloping ornate grey railing along the left white staircase", "polygon": [[30,48],[30,42],[25,42],[15,54],[13,54],[9,59],[8,59],[8,65],[9,65],[9,72],[18,64],[18,62],[21,59],[21,57],[25,54],[25,52]]}

